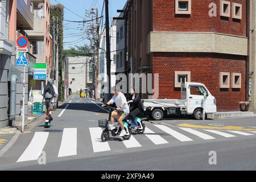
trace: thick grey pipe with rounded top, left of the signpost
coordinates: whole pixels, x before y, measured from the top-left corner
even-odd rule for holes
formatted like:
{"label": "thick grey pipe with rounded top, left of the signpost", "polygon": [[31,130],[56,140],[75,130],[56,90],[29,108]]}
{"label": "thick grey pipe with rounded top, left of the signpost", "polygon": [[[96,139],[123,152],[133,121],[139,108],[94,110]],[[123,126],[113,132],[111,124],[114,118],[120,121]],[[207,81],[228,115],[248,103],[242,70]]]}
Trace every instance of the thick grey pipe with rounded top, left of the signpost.
{"label": "thick grey pipe with rounded top, left of the signpost", "polygon": [[10,90],[10,125],[13,126],[13,121],[15,121],[16,115],[16,82],[17,76],[11,76],[11,90]]}

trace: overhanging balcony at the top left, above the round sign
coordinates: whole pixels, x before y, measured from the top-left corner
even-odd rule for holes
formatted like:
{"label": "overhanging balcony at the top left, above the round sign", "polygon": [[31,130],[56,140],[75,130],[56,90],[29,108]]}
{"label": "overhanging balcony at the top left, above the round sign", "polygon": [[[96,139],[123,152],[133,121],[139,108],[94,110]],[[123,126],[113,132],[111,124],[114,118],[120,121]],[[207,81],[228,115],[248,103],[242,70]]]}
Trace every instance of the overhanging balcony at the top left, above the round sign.
{"label": "overhanging balcony at the top left, above the round sign", "polygon": [[17,29],[33,30],[34,18],[31,6],[30,0],[17,1]]}

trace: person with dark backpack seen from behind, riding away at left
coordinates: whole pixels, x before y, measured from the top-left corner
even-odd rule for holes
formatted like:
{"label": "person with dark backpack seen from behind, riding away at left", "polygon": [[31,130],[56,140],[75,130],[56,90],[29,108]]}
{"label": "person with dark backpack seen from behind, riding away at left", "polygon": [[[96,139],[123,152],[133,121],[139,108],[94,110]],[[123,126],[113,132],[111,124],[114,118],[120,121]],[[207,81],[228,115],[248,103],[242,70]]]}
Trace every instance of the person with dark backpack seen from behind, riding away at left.
{"label": "person with dark backpack seen from behind, riding away at left", "polygon": [[53,120],[52,118],[52,110],[55,102],[55,97],[58,97],[58,90],[55,85],[53,85],[53,81],[49,78],[47,85],[41,91],[43,96],[43,102],[46,105],[46,115],[49,117],[49,122]]}

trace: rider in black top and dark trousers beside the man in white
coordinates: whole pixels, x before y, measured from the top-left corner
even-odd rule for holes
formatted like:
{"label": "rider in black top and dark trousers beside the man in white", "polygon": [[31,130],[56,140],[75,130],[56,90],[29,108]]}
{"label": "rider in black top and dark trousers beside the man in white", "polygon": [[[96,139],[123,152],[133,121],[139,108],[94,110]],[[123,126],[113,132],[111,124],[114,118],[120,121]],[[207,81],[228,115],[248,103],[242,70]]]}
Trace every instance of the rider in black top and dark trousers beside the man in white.
{"label": "rider in black top and dark trousers beside the man in white", "polygon": [[130,89],[130,94],[126,97],[127,103],[130,104],[130,114],[131,119],[131,129],[137,130],[138,123],[136,117],[141,117],[143,113],[143,104],[141,101],[141,96],[138,93],[135,93],[135,88]]}

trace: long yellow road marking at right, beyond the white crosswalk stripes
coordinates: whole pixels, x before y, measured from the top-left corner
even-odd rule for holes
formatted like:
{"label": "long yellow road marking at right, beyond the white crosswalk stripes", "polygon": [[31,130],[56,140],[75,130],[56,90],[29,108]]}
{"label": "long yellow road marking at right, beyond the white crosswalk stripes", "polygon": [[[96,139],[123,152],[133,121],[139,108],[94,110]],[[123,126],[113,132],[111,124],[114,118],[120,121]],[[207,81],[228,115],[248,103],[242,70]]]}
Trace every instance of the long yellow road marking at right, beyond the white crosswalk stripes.
{"label": "long yellow road marking at right, beyond the white crosswalk stripes", "polygon": [[197,128],[197,129],[213,129],[213,130],[243,130],[243,131],[256,131],[256,129],[245,129],[243,126],[223,126],[223,127],[218,127],[218,126],[204,126],[204,125],[191,125],[191,124],[180,124],[177,126],[181,127],[192,127],[192,128]]}

